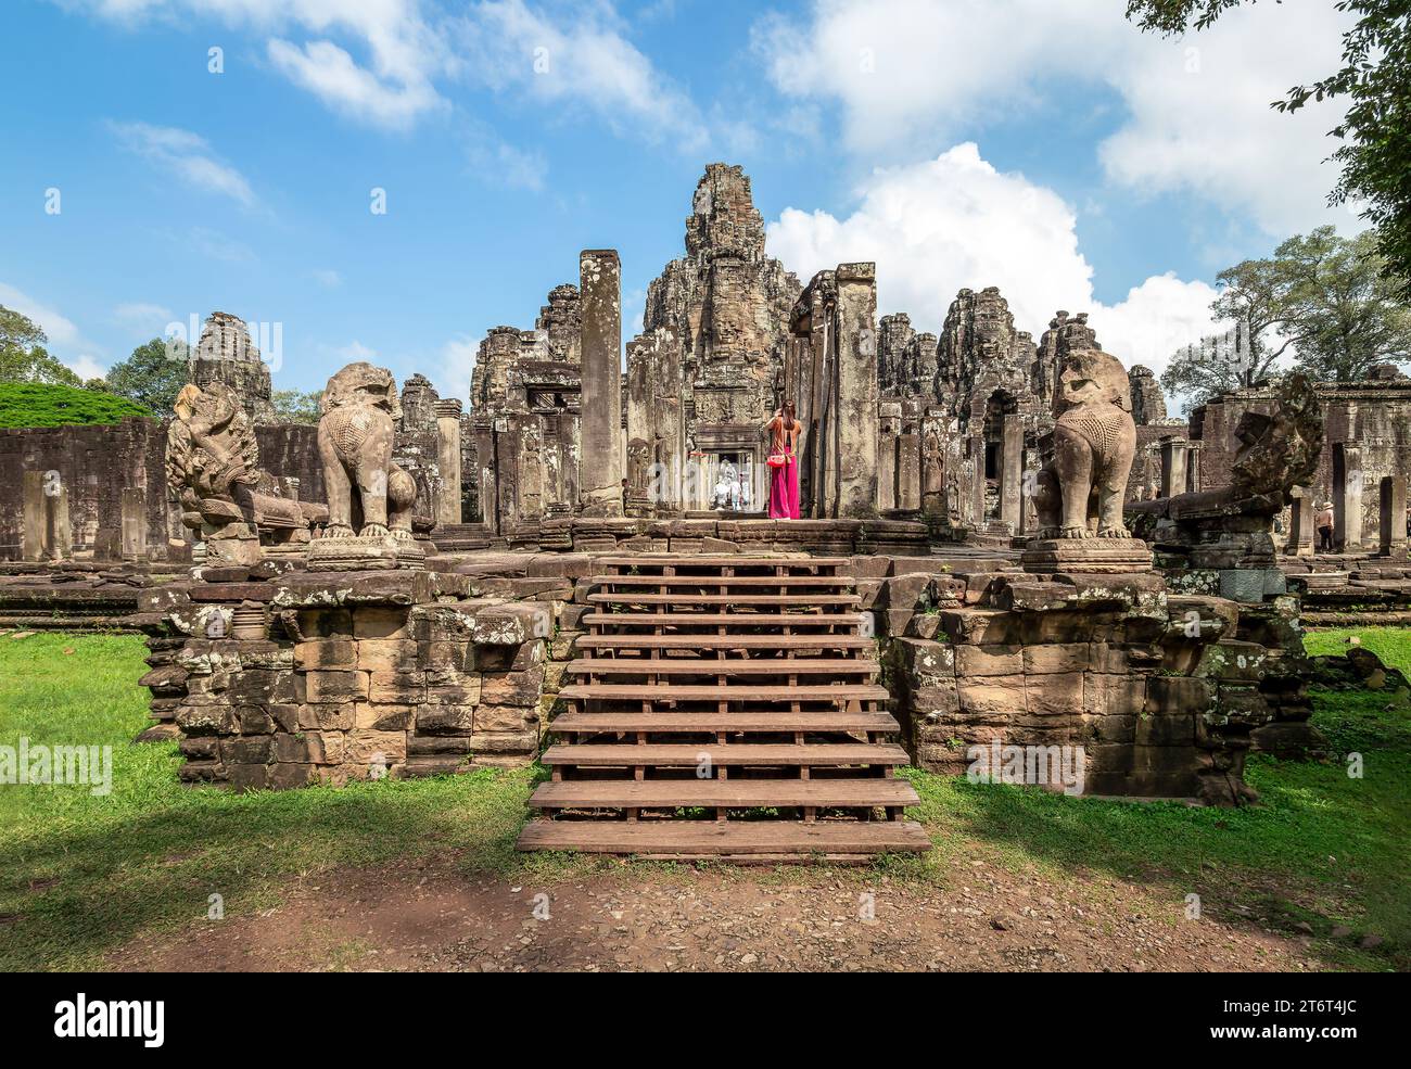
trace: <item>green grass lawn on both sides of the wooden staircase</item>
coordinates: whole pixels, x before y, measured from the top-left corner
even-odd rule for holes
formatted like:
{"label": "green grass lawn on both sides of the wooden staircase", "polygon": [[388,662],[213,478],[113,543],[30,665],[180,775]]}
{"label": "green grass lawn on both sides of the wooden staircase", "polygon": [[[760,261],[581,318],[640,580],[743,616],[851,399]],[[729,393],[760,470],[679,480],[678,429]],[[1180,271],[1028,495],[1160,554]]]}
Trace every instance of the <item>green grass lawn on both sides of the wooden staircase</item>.
{"label": "green grass lawn on both sides of the wooden staircase", "polygon": [[[1411,671],[1411,632],[1360,632],[1364,645]],[[1345,649],[1345,633],[1309,636],[1314,652]],[[205,917],[210,894],[227,915],[277,901],[291,879],[344,865],[437,856],[467,872],[552,879],[615,862],[518,855],[514,839],[539,773],[474,773],[344,788],[231,795],[179,786],[175,743],[133,745],[147,726],[141,639],[0,636],[0,743],[113,746],[113,791],[0,788],[0,967],[73,969],[138,935]],[[1068,798],[1033,788],[975,786],[909,771],[914,815],[931,856],[886,863],[890,879],[954,881],[976,853],[1058,879],[1139,880],[1178,904],[1197,893],[1212,915],[1307,924],[1329,967],[1411,965],[1411,714],[1388,695],[1316,691],[1316,723],[1366,774],[1339,762],[1254,757],[1263,802],[1202,810],[1174,802]],[[639,865],[643,880],[658,866]],[[847,870],[789,879],[875,879]],[[751,870],[739,879],[779,879]],[[1173,917],[1178,911],[1173,910]],[[1174,921],[1173,921],[1174,922]],[[1332,938],[1333,927],[1353,929]],[[1384,943],[1357,949],[1374,934]]]}

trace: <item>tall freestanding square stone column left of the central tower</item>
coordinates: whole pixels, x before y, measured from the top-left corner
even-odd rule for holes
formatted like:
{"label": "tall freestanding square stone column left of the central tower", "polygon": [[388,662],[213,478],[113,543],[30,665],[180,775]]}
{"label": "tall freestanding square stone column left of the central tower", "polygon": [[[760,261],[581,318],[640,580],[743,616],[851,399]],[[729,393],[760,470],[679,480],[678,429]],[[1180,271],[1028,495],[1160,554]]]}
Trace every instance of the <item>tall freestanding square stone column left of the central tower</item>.
{"label": "tall freestanding square stone column left of the central tower", "polygon": [[579,254],[583,326],[583,511],[622,515],[622,265],[615,250]]}

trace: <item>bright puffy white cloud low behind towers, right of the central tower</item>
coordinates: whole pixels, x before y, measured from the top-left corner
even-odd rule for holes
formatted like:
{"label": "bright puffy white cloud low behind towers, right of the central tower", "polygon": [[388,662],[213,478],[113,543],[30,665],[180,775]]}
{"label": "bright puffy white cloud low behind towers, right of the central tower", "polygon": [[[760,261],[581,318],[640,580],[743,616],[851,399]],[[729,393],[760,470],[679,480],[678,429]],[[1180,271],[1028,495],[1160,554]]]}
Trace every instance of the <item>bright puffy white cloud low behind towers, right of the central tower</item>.
{"label": "bright puffy white cloud low behind towers, right of the central tower", "polygon": [[999,286],[1016,327],[1036,337],[1058,309],[1088,312],[1103,348],[1157,374],[1177,346],[1211,330],[1215,291],[1205,282],[1157,275],[1115,306],[1095,300],[1072,209],[1023,175],[996,171],[974,142],[878,169],[856,195],[845,219],[785,209],[766,228],[770,255],[800,278],[875,261],[879,314],[906,312],[933,333],[967,286]]}

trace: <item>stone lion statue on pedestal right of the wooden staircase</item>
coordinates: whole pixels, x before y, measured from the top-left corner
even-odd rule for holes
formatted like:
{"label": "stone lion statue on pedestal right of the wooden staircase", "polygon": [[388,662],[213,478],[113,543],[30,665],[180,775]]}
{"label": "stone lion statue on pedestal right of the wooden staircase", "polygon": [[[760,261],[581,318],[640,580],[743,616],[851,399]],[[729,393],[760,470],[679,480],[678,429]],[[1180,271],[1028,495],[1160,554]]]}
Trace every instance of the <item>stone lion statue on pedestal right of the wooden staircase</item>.
{"label": "stone lion statue on pedestal right of the wooden staircase", "polygon": [[1053,457],[1038,472],[1040,537],[1130,537],[1122,501],[1136,456],[1132,388],[1122,362],[1095,348],[1070,353],[1054,398]]}

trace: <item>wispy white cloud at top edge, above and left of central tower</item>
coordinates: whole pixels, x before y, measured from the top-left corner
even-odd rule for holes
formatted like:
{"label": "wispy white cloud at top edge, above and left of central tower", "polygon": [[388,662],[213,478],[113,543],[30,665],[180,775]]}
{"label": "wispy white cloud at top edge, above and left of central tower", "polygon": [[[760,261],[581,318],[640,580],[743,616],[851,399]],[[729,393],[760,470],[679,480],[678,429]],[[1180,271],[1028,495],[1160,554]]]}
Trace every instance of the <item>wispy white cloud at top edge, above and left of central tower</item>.
{"label": "wispy white cloud at top edge, above and left of central tower", "polygon": [[700,151],[708,137],[698,109],[622,32],[615,11],[595,4],[569,17],[523,0],[487,0],[454,32],[457,69],[495,90],[595,111],[617,131]]}

